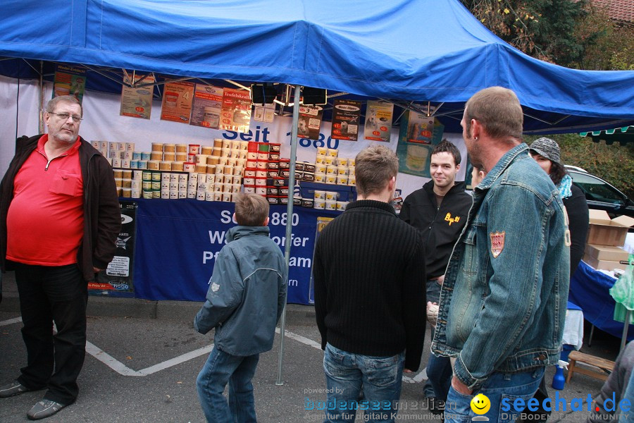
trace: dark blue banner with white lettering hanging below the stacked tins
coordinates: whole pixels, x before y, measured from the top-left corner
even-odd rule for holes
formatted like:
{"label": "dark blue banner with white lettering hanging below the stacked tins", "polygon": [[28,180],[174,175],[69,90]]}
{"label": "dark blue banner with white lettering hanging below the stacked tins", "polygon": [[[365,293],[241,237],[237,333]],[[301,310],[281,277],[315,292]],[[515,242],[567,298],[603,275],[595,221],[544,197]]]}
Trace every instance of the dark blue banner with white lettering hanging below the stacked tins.
{"label": "dark blue banner with white lettering hanging below the stacked tins", "polygon": [[[147,300],[204,301],[220,249],[226,243],[234,204],[198,200],[135,200],[137,245],[135,297]],[[317,218],[340,212],[294,207],[288,301],[309,304]],[[286,206],[271,206],[271,239],[284,252]]]}

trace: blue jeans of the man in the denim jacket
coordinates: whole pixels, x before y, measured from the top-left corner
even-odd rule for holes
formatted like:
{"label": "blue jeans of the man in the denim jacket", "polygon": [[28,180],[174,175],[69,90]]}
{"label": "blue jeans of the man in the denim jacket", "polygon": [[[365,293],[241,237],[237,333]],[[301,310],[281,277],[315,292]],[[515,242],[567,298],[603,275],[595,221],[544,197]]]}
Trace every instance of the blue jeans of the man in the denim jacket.
{"label": "blue jeans of the man in the denim jacket", "polygon": [[[521,411],[515,411],[513,402],[516,398],[522,398],[524,403],[533,398],[540,381],[544,376],[545,367],[521,373],[493,373],[482,388],[473,392],[473,395],[463,395],[456,392],[454,388],[449,389],[447,403],[445,405],[445,423],[466,423],[472,422],[477,416],[471,410],[471,400],[478,393],[482,393],[491,403],[490,410],[483,416],[488,417],[489,422],[515,422]],[[510,405],[510,410],[504,411],[502,400],[506,398],[506,403]]]}

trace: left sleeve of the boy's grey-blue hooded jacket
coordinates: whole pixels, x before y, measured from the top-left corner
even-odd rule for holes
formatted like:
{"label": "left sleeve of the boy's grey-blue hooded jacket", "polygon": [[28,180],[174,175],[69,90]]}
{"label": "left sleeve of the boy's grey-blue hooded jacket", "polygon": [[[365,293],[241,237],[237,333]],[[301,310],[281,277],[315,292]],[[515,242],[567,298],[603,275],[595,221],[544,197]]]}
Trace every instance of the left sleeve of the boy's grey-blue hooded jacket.
{"label": "left sleeve of the boy's grey-blue hooded jacket", "polygon": [[240,305],[243,290],[244,283],[237,259],[228,245],[225,245],[213,265],[206,301],[194,318],[194,329],[200,333],[207,333],[223,324]]}

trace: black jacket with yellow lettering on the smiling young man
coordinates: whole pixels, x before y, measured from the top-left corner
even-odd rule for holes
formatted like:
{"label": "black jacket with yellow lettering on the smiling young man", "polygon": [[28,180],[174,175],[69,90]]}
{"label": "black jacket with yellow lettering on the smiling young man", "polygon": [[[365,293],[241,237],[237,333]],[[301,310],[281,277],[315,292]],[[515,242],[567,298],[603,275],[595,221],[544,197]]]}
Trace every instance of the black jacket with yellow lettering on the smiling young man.
{"label": "black jacket with yellow lettering on the smiling young man", "polygon": [[464,182],[456,182],[445,194],[440,209],[436,205],[433,180],[403,202],[399,216],[423,235],[425,269],[430,279],[445,274],[449,256],[466,223],[473,198],[464,192],[464,187]]}

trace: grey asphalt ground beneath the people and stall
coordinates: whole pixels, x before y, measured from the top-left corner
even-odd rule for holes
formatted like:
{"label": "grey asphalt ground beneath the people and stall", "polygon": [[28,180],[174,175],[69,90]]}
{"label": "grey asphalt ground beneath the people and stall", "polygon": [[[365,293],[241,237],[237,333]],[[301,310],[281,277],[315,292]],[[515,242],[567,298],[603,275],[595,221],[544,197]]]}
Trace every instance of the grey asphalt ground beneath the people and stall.
{"label": "grey asphalt ground beneath the people and stall", "polygon": [[[0,303],[0,384],[15,379],[26,362],[20,335],[18,296],[11,273],[3,275]],[[196,377],[213,348],[213,336],[194,331],[192,319],[200,302],[89,298],[87,355],[78,379],[77,401],[45,421],[85,422],[204,422],[196,393]],[[264,353],[254,377],[258,422],[322,422],[317,410],[325,400],[323,352],[312,306],[288,305],[278,385],[280,340]],[[424,364],[430,343],[425,342],[421,371],[409,374],[402,385],[397,421],[440,422],[423,399]],[[582,351],[614,360],[619,340],[595,330],[592,347]],[[554,368],[547,369],[551,381]],[[603,382],[575,374],[559,396],[566,412],[554,412],[550,422],[584,422],[584,411],[570,411],[573,398],[595,397]],[[554,389],[549,388],[554,396]],[[27,422],[26,412],[44,391],[0,398],[0,422]],[[357,415],[356,422],[363,422]]]}

